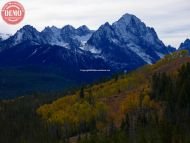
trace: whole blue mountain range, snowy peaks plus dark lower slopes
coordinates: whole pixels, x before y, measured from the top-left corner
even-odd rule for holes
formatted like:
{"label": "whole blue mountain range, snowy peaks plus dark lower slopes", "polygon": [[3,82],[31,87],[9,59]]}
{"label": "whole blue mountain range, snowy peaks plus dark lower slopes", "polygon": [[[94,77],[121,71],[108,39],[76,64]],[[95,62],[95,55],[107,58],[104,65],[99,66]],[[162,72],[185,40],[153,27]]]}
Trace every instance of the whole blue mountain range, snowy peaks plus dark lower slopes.
{"label": "whole blue mountain range, snowy peaks plus dark lower slopes", "polygon": [[66,25],[39,32],[26,25],[0,42],[0,47],[2,69],[57,73],[80,83],[153,64],[174,51],[159,40],[153,28],[130,14],[97,31],[85,25],[77,29]]}

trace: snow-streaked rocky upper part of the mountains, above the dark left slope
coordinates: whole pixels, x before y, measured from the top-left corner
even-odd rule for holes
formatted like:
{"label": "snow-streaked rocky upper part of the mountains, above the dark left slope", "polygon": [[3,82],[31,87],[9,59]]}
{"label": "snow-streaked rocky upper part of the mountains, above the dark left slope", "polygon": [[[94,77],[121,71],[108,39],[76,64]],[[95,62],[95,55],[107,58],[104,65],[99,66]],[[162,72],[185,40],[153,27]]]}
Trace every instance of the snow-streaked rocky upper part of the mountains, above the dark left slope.
{"label": "snow-streaked rocky upper part of the mountains, above the dark left slope", "polygon": [[[60,29],[55,26],[46,27],[42,32],[38,32],[34,27],[26,25],[0,44],[3,48],[34,46],[32,50],[24,50],[31,50],[30,56],[38,55],[43,60],[44,56],[41,57],[41,55],[44,53],[50,55],[52,59],[60,57],[64,59],[65,53],[72,52],[75,56],[83,53],[90,55],[89,57],[93,60],[101,58],[106,65],[116,71],[132,70],[145,64],[152,64],[173,50],[163,44],[153,28],[146,26],[144,22],[131,14],[123,15],[113,24],[108,22],[103,24],[97,31],[91,31],[85,25],[79,28],[66,25]],[[43,46],[43,52],[37,49],[41,46]],[[54,51],[55,55],[52,55],[51,51]],[[80,56],[83,57],[83,55]],[[73,62],[73,57],[71,57],[71,62]]]}

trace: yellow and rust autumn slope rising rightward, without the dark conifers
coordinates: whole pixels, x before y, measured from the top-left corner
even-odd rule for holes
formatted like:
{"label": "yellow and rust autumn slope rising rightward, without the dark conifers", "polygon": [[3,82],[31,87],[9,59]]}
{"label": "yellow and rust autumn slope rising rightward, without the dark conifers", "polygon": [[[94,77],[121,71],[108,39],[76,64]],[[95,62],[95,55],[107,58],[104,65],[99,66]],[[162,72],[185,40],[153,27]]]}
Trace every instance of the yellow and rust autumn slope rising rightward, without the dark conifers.
{"label": "yellow and rust autumn slope rising rightward, without the dark conifers", "polygon": [[[166,80],[164,84],[167,85],[167,82],[170,82],[167,74],[178,75],[181,66],[189,62],[190,58],[187,52],[178,52],[154,65],[142,67],[130,74],[116,76],[107,82],[82,88],[73,95],[41,106],[37,112],[48,124],[56,123],[63,128],[66,127],[68,137],[81,132],[85,134],[93,128],[100,133],[109,132],[110,128],[119,128],[124,120],[128,121],[126,128],[129,130],[134,126],[138,127],[141,121],[145,126],[146,121],[153,120],[152,116],[157,118],[157,114],[161,116],[160,114],[165,112],[162,108],[165,102],[163,101],[161,104],[151,97],[152,78],[155,75],[166,77],[163,80]],[[169,86],[167,85],[167,87]],[[162,84],[157,87],[165,90]],[[167,105],[163,107],[167,107]],[[162,120],[160,118],[162,117],[159,117],[158,120]],[[160,122],[162,123],[162,121]],[[131,134],[129,133],[129,135]]]}

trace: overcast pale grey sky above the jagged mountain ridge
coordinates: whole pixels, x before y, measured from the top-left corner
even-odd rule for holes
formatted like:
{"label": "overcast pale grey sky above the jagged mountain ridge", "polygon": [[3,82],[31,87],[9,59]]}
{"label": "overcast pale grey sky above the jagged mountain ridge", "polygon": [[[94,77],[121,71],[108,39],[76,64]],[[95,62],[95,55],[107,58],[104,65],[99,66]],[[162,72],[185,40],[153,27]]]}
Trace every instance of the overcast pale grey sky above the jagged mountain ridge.
{"label": "overcast pale grey sky above the jagged mountain ridge", "polygon": [[[66,24],[74,27],[87,25],[97,29],[105,22],[113,23],[123,14],[139,17],[146,25],[154,27],[167,45],[178,47],[190,37],[189,0],[18,0],[26,10],[25,19],[18,25],[7,25],[0,18],[0,33],[15,33],[30,24],[41,31],[45,26],[59,28]],[[0,1],[0,7],[8,2]]]}

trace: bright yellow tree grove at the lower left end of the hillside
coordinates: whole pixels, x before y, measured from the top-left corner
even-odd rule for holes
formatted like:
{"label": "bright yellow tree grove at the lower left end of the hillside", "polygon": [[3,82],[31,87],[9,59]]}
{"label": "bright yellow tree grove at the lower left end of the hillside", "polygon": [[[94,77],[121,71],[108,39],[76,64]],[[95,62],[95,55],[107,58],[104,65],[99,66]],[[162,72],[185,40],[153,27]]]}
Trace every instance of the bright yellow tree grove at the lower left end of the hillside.
{"label": "bright yellow tree grove at the lower left end of the hillside", "polygon": [[81,123],[89,123],[93,119],[105,118],[106,111],[106,105],[100,101],[90,104],[86,99],[79,99],[77,95],[73,95],[43,105],[37,113],[49,123],[78,126]]}

